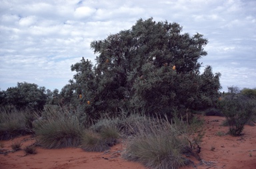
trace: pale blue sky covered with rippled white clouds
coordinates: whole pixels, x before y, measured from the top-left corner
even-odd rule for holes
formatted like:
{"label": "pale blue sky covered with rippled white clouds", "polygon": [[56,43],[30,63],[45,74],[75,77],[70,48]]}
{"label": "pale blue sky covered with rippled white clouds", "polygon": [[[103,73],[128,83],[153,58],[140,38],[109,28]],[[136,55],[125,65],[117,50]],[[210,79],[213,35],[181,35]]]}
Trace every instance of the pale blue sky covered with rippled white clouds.
{"label": "pale blue sky covered with rippled white clouds", "polygon": [[221,73],[223,90],[256,87],[255,0],[0,0],[0,88],[25,81],[61,90],[72,64],[95,62],[91,41],[149,17],[203,34],[201,61]]}

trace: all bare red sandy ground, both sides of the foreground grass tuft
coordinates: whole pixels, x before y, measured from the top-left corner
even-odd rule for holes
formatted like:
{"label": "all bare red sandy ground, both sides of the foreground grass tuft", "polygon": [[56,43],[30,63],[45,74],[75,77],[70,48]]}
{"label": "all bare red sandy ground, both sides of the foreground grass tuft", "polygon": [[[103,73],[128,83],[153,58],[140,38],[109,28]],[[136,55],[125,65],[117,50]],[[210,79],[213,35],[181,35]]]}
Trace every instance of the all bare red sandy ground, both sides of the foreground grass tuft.
{"label": "all bare red sandy ground, both sides of the foreground grass tuft", "polygon": [[[256,126],[245,126],[243,136],[233,137],[224,134],[228,131],[228,127],[221,126],[221,122],[225,118],[219,116],[204,116],[203,118],[205,118],[205,136],[199,154],[202,160],[199,162],[190,158],[195,165],[186,166],[183,169],[256,168]],[[22,142],[22,148],[35,142],[31,136],[1,141],[3,148],[0,147],[0,169],[145,168],[139,163],[121,158],[121,154],[125,150],[125,142],[113,146],[107,152],[84,152],[81,148],[48,150],[38,147],[37,154],[26,155],[23,150],[3,154],[3,152],[11,150],[11,144],[18,141]]]}

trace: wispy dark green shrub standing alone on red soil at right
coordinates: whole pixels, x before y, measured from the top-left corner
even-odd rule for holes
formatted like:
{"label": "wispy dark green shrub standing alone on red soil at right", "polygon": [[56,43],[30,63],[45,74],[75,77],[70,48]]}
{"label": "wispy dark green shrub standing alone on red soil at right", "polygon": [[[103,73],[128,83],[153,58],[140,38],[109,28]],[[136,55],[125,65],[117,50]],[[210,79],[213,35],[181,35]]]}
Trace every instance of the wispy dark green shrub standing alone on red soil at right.
{"label": "wispy dark green shrub standing alone on red soil at right", "polygon": [[227,123],[229,124],[229,133],[233,136],[239,136],[243,132],[244,125],[253,114],[255,105],[247,96],[241,94],[230,94],[219,101]]}

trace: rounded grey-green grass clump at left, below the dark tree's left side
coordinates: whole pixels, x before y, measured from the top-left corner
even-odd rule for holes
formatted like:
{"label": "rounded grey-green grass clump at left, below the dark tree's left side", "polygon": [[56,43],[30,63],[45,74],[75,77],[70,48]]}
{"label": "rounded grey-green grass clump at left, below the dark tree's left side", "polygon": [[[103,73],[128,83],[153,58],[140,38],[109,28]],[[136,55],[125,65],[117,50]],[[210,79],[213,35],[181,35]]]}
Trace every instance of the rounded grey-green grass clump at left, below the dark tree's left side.
{"label": "rounded grey-green grass clump at left, below the dark tree's left side", "polygon": [[38,142],[45,148],[78,146],[83,127],[76,116],[68,112],[56,112],[51,118],[41,120],[35,128]]}

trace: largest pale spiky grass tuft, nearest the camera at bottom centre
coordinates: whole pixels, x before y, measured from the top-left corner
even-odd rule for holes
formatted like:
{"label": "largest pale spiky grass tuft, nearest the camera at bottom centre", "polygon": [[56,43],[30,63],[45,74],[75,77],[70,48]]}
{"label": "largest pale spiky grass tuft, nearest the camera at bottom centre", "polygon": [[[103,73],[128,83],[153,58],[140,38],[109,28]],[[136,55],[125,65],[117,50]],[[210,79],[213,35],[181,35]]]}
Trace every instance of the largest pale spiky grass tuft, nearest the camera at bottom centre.
{"label": "largest pale spiky grass tuft, nearest the camera at bottom centre", "polygon": [[137,123],[139,132],[128,143],[123,154],[125,159],[141,162],[148,168],[165,169],[185,166],[189,160],[183,158],[183,154],[197,154],[194,147],[199,145],[201,135],[195,136],[195,133],[202,124],[200,120],[194,120],[190,126],[177,119],[173,124],[164,119],[148,122]]}

